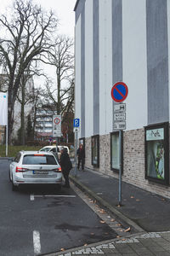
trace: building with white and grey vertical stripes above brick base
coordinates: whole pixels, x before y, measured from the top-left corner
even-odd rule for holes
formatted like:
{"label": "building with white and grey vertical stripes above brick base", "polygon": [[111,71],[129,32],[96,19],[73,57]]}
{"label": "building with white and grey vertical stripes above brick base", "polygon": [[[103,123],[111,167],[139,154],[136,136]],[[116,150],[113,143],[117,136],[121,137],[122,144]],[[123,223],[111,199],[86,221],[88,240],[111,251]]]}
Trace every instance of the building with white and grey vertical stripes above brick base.
{"label": "building with white and grey vertical stripes above brick base", "polygon": [[118,178],[111,88],[128,87],[122,180],[170,198],[170,0],[77,0],[75,117],[85,166]]}

